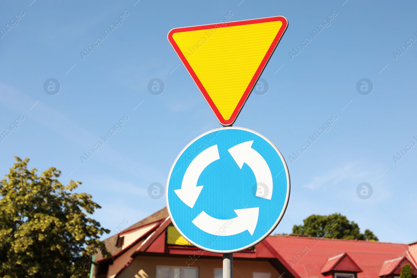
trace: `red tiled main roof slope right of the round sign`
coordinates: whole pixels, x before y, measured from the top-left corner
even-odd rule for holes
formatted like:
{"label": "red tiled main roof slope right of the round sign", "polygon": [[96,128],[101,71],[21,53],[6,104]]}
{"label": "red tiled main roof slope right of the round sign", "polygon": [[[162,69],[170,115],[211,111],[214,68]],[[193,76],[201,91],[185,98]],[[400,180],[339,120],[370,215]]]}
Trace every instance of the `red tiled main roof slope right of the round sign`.
{"label": "red tiled main roof slope right of the round sign", "polygon": [[302,278],[323,278],[322,269],[332,258],[347,253],[362,272],[357,278],[377,278],[386,260],[406,256],[408,245],[367,240],[340,240],[305,236],[270,236],[265,240]]}

